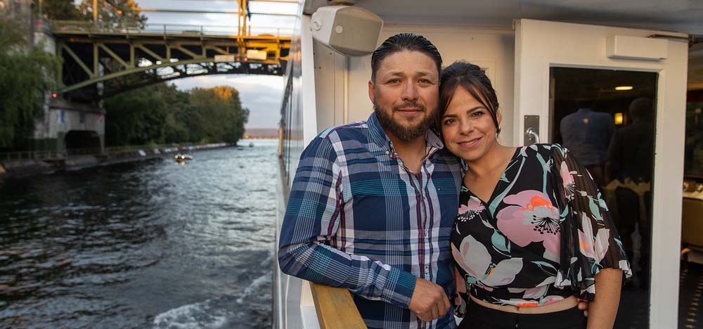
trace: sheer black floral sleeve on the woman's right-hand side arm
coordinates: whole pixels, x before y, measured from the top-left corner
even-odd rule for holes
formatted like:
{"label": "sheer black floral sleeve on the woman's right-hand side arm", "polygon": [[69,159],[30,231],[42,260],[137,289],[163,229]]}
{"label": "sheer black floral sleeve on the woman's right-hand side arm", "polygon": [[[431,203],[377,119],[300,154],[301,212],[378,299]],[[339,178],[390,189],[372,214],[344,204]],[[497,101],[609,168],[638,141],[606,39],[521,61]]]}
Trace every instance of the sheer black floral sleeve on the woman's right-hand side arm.
{"label": "sheer black floral sleeve on the woman's right-hand side arm", "polygon": [[632,276],[630,264],[605,200],[586,168],[566,148],[552,146],[551,171],[562,210],[560,270],[555,286],[572,286],[581,298],[593,300],[595,274],[620,269]]}

